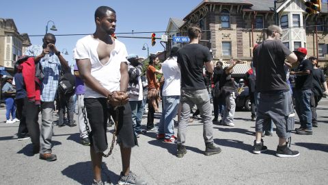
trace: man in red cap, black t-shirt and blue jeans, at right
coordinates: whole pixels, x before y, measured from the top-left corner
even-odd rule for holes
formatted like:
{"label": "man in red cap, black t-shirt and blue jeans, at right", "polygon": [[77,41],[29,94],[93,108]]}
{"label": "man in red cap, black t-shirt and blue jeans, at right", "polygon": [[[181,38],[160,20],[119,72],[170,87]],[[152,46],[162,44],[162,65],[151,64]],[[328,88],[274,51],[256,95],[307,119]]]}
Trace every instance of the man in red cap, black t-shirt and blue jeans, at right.
{"label": "man in red cap, black t-shirt and blue jeans, at right", "polygon": [[292,71],[290,75],[295,75],[295,108],[301,127],[296,129],[297,134],[312,135],[312,112],[310,108],[310,98],[312,95],[312,71],[313,66],[310,60],[305,59],[308,51],[299,47],[294,51],[297,56],[299,66],[297,72]]}

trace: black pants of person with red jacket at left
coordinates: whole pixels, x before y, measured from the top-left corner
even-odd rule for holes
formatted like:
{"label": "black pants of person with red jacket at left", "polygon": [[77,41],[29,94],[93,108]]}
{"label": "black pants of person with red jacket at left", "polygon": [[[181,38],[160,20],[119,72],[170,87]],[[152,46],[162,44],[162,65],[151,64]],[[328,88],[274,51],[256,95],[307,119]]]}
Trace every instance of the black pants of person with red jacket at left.
{"label": "black pants of person with red jacket at left", "polygon": [[27,126],[27,130],[29,130],[29,136],[31,137],[31,142],[33,145],[40,145],[40,126],[38,123],[40,108],[35,102],[28,101],[27,98],[22,100],[23,101],[20,101],[20,103],[23,104],[20,124]]}

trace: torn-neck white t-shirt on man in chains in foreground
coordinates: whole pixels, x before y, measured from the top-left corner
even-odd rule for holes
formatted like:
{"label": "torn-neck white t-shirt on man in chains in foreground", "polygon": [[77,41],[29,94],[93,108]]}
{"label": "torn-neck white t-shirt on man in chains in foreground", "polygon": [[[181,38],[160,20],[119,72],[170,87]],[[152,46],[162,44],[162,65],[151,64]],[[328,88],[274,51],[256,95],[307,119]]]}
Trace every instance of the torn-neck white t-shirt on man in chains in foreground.
{"label": "torn-neck white t-shirt on man in chains in foreground", "polygon": [[[77,45],[74,49],[74,59],[90,59],[91,62],[91,75],[96,78],[102,86],[107,90],[120,90],[120,65],[121,62],[128,62],[126,56],[128,52],[126,51],[125,45],[119,40],[115,39],[115,48],[111,51],[111,56],[107,64],[101,64],[97,47],[99,40],[94,38],[92,35],[85,36],[77,41]],[[104,97],[96,91],[85,86],[86,98],[98,98]]]}

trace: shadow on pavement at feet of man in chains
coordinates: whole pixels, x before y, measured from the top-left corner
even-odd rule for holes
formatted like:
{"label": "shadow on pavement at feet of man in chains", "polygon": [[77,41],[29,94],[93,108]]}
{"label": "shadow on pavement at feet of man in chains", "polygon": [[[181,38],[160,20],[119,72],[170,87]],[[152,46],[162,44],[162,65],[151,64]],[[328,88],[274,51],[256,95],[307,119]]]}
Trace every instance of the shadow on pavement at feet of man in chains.
{"label": "shadow on pavement at feet of man in chains", "polygon": [[[92,184],[94,176],[92,172],[92,163],[91,161],[87,162],[78,162],[77,164],[72,164],[63,171],[63,175],[70,177],[72,180],[79,182],[79,184]],[[117,184],[120,175],[116,175],[112,171],[109,171],[105,162],[101,164],[101,179],[102,182],[116,182]]]}

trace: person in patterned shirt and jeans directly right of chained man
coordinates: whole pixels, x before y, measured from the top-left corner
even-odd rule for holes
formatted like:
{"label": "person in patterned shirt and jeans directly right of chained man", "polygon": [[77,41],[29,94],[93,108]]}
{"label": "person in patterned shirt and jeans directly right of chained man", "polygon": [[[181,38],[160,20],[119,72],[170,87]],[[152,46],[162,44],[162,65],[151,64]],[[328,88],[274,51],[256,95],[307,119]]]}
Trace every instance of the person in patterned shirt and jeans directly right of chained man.
{"label": "person in patterned shirt and jeans directly right of chained man", "polygon": [[141,82],[142,64],[139,62],[139,57],[131,54],[127,57],[128,60],[128,103],[130,103],[132,111],[133,130],[135,136],[139,138],[139,134],[146,134],[146,130],[141,129],[141,120],[143,114],[143,90]]}

